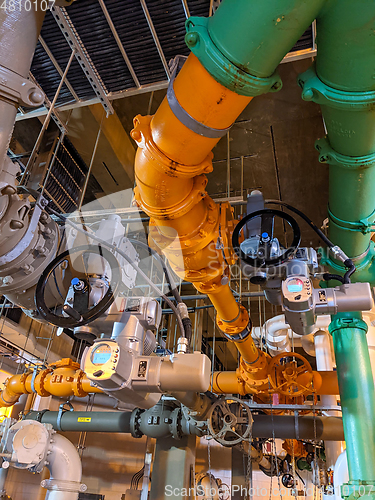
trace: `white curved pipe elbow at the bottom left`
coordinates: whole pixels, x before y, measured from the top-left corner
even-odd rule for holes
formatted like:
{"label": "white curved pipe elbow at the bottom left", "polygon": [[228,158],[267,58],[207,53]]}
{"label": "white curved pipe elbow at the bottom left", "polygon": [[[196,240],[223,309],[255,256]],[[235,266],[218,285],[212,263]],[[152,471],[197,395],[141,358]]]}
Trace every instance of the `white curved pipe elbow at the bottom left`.
{"label": "white curved pipe elbow at the bottom left", "polygon": [[53,482],[60,491],[48,490],[46,500],[77,500],[82,480],[82,463],[77,448],[60,434],[54,434],[52,441],[46,465],[50,479],[43,480],[42,486]]}

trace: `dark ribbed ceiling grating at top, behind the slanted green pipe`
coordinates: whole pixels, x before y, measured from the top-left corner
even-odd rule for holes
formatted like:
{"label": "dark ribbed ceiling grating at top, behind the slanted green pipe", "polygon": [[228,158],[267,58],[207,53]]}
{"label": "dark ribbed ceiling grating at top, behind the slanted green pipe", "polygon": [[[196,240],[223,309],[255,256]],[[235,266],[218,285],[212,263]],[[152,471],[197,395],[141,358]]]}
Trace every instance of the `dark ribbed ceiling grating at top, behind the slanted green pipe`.
{"label": "dark ribbed ceiling grating at top, behind the slanted green pipe", "polygon": [[[189,54],[184,41],[186,16],[207,16],[210,4],[212,0],[78,0],[60,13],[69,16],[72,36],[77,36],[102,82],[102,97],[115,99],[165,87],[166,63],[176,54]],[[72,48],[54,15],[46,15],[31,69],[51,101]],[[314,55],[314,35],[313,27],[306,30],[286,60]],[[89,80],[73,61],[57,106],[103,102]]]}

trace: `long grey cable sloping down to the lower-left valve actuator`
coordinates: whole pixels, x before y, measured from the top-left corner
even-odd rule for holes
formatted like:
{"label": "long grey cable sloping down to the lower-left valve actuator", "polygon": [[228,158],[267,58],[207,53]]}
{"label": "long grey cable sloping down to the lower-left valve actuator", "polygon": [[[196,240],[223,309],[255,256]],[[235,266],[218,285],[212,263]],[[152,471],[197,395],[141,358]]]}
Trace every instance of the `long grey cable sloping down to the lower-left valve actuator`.
{"label": "long grey cable sloping down to the lower-left valve actuator", "polygon": [[180,329],[180,332],[181,332],[181,335],[182,337],[185,337],[185,328],[184,328],[184,324],[183,324],[183,321],[182,321],[182,318],[181,318],[181,315],[177,309],[177,307],[173,304],[173,302],[165,295],[165,293],[162,292],[162,290],[160,290],[160,288],[158,288],[150,279],[149,277],[142,271],[142,269],[140,269],[138,267],[138,265],[136,264],[136,262],[134,262],[128,255],[126,255],[125,252],[123,252],[122,250],[120,250],[119,248],[117,248],[115,245],[112,245],[111,243],[108,243],[108,241],[105,241],[105,240],[102,240],[101,238],[99,238],[98,236],[96,236],[95,234],[92,234],[92,233],[89,233],[88,231],[86,231],[85,229],[82,229],[80,228],[77,224],[75,224],[74,222],[72,222],[71,220],[69,220],[68,217],[65,217],[64,215],[60,214],[59,212],[56,212],[55,210],[53,210],[53,208],[51,207],[46,207],[46,209],[51,212],[53,215],[56,215],[57,217],[59,217],[61,220],[63,220],[64,222],[67,222],[70,226],[72,226],[76,231],[84,234],[87,238],[90,238],[94,241],[97,241],[98,243],[100,243],[101,245],[107,247],[107,248],[110,248],[111,250],[113,250],[115,253],[118,253],[119,255],[121,255],[121,257],[123,257],[136,271],[137,273],[140,274],[140,276],[144,279],[144,281],[146,281],[146,283],[154,290],[155,293],[157,293],[160,297],[163,298],[163,300],[169,305],[169,307],[173,310],[174,314],[176,315],[176,318],[177,318],[177,322],[178,322],[178,326],[179,326],[179,329]]}

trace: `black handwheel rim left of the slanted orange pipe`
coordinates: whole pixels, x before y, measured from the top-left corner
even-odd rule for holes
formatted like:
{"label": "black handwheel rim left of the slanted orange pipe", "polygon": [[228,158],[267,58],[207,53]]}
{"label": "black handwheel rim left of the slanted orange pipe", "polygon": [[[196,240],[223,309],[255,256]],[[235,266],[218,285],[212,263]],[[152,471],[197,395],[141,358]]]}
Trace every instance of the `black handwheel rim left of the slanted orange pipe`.
{"label": "black handwheel rim left of the slanted orange pipe", "polygon": [[[103,257],[111,267],[111,284],[104,295],[104,297],[91,309],[87,312],[79,314],[77,313],[77,319],[73,317],[65,318],[63,316],[59,316],[51,312],[50,308],[46,305],[44,293],[46,289],[47,282],[54,272],[56,267],[61,264],[64,260],[69,258],[72,254],[75,253],[94,253]],[[75,328],[77,326],[86,325],[91,321],[94,321],[96,318],[101,316],[108,307],[114,301],[115,295],[119,289],[119,286],[122,282],[122,272],[120,265],[116,259],[116,257],[106,248],[102,246],[96,245],[82,245],[77,248],[73,248],[71,250],[67,250],[62,254],[58,255],[52,262],[48,264],[43,274],[39,278],[38,284],[36,286],[35,291],[35,305],[39,312],[39,314],[46,321],[51,323],[52,325],[59,326],[61,328]]]}

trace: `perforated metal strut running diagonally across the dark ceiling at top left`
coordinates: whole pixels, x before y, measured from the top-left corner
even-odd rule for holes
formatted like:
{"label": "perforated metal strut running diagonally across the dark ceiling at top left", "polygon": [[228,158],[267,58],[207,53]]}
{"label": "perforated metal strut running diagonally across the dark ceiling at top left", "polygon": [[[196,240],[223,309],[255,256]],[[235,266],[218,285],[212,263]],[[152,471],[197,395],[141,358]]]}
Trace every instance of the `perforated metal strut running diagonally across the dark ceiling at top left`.
{"label": "perforated metal strut running diagonally across the dark ceiling at top left", "polygon": [[63,33],[66,41],[69,44],[71,49],[75,49],[76,51],[76,59],[80,64],[86,78],[90,82],[91,87],[93,88],[95,94],[97,95],[99,102],[105,109],[107,114],[113,113],[112,105],[107,97],[107,88],[104,85],[99,72],[95,68],[94,63],[92,62],[90,56],[88,55],[87,50],[77,33],[77,30],[74,28],[74,25],[66,11],[63,7],[51,7],[51,13],[55,18],[56,23],[58,24],[61,32]]}

